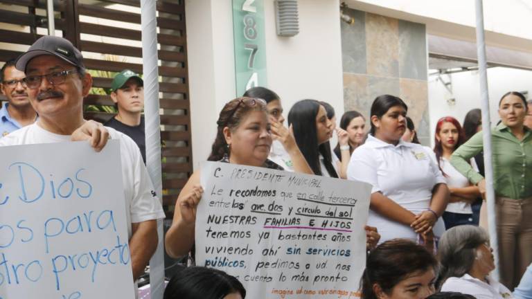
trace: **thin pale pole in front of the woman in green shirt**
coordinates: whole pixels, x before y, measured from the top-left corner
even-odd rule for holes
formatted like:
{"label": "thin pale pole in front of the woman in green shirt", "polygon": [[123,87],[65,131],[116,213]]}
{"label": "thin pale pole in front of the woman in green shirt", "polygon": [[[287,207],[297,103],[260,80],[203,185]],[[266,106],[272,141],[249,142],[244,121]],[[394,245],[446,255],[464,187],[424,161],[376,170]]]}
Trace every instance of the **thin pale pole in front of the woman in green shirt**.
{"label": "thin pale pole in front of the woman in green shirt", "polygon": [[488,205],[490,244],[493,248],[493,256],[495,257],[495,270],[492,272],[492,276],[495,280],[499,280],[499,243],[497,242],[497,223],[495,222],[495,192],[493,190],[493,165],[491,162],[490,102],[488,96],[488,76],[486,74],[486,44],[484,43],[484,12],[482,8],[482,0],[476,0],[475,7],[477,11],[477,56],[480,76],[484,172],[486,174],[486,203]]}

